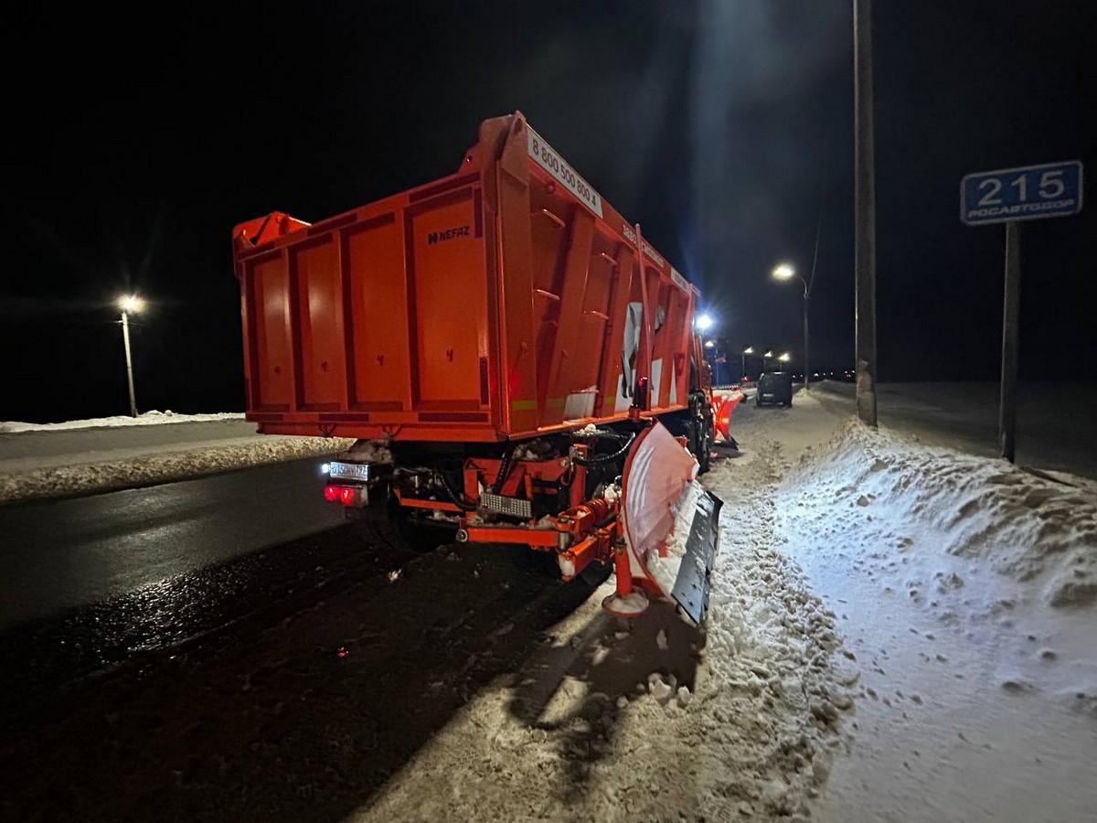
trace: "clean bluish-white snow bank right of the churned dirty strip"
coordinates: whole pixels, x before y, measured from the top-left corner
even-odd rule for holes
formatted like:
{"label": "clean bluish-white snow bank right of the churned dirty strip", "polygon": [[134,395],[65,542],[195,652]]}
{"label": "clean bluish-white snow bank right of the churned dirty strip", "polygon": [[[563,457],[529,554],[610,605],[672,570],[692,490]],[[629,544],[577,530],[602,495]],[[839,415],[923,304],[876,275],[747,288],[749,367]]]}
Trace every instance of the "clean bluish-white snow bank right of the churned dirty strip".
{"label": "clean bluish-white snow bank right of the churned dirty strip", "polygon": [[860,673],[850,753],[813,816],[1092,820],[1093,486],[866,430],[802,394],[738,422],[794,463],[778,539]]}

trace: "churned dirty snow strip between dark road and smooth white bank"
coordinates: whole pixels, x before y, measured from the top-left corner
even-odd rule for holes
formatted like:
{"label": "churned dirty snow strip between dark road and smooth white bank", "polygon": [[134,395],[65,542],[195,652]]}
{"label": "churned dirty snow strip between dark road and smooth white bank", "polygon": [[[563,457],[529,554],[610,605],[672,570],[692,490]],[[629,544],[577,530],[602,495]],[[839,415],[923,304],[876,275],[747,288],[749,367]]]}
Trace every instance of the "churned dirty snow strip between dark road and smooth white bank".
{"label": "churned dirty snow strip between dark road and smooth white bank", "polygon": [[706,631],[661,600],[606,615],[611,579],[348,820],[804,819],[858,675],[777,550],[779,478],[767,455],[706,476],[727,500]]}

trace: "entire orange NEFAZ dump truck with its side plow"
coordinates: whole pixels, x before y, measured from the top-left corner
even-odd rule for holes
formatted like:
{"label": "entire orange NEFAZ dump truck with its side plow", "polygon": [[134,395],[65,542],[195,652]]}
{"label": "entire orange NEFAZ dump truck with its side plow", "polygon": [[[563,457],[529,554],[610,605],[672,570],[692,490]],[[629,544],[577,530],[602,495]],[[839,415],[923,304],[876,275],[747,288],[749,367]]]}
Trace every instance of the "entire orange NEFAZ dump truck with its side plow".
{"label": "entire orange NEFAZ dump truck with its side plow", "polygon": [[[704,615],[720,500],[700,293],[520,113],[445,178],[233,229],[247,418],[354,438],[323,494],[418,548],[613,564],[619,615]],[[317,491],[317,494],[320,489]]]}

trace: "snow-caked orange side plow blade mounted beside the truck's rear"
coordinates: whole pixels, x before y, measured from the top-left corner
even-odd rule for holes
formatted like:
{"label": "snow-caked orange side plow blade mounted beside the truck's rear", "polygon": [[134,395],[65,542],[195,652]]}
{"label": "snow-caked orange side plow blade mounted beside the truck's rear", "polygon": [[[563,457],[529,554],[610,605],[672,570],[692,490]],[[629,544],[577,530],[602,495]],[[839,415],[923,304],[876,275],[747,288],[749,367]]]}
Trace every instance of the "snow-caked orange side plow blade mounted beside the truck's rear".
{"label": "snow-caked orange side plow blade mounted beside the truck's rear", "polygon": [[704,620],[723,501],[697,473],[697,460],[661,424],[633,441],[622,474],[624,551],[607,611],[643,613],[646,590],[677,602],[694,623]]}

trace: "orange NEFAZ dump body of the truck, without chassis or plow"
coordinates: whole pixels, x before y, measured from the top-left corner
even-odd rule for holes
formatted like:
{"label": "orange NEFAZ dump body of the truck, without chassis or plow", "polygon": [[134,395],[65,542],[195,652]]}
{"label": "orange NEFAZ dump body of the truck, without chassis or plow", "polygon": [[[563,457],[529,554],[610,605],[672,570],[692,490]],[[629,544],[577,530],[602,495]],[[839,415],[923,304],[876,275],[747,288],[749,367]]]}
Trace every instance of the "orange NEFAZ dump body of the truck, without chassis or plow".
{"label": "orange NEFAZ dump body of the truck, without chassis or plow", "polygon": [[233,251],[263,432],[498,442],[708,388],[698,290],[520,113],[484,121],[449,177],[241,223]]}

